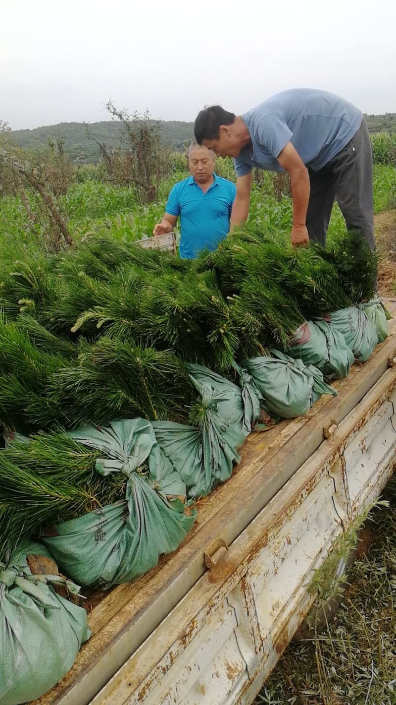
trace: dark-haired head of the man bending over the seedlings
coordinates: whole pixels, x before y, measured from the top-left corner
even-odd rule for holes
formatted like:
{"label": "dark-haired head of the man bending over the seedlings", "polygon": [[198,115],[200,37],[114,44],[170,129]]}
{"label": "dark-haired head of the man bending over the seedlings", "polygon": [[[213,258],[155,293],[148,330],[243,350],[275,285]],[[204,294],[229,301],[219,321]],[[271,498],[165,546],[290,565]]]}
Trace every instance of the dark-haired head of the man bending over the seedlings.
{"label": "dark-haired head of the man bending over the seedlings", "polygon": [[204,108],[194,125],[198,144],[212,149],[217,157],[238,157],[243,147],[240,119],[220,105]]}

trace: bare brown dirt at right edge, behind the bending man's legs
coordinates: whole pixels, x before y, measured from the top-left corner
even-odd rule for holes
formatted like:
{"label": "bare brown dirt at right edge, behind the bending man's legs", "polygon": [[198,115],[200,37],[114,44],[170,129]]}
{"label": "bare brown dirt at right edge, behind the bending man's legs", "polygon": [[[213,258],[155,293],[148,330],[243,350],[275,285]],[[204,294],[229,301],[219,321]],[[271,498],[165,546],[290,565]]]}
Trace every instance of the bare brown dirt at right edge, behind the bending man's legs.
{"label": "bare brown dirt at right edge, behind the bending man's legs", "polygon": [[374,216],[374,228],[380,255],[378,289],[381,296],[396,297],[396,210]]}

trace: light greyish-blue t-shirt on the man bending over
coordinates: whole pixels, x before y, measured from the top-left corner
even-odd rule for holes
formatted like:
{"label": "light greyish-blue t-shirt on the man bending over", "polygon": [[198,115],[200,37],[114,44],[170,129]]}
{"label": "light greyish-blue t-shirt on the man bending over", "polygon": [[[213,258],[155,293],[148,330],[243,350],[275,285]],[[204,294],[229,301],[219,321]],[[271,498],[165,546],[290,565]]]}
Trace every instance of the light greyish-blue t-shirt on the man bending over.
{"label": "light greyish-blue t-shirt on the man bending over", "polygon": [[237,176],[253,166],[283,171],[277,161],[291,142],[304,164],[319,171],[357,133],[362,112],[343,98],[312,88],[293,88],[264,100],[242,116],[251,145],[234,159]]}

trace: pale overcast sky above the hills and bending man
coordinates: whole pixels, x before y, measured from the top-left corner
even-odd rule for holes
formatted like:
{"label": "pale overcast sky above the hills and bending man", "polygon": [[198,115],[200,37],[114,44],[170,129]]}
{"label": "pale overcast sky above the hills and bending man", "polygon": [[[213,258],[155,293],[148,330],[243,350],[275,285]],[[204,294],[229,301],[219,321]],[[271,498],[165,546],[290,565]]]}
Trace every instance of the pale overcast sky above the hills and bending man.
{"label": "pale overcast sky above the hills and bending man", "polygon": [[129,112],[241,114],[289,87],[396,112],[396,0],[2,3],[0,119],[11,128]]}

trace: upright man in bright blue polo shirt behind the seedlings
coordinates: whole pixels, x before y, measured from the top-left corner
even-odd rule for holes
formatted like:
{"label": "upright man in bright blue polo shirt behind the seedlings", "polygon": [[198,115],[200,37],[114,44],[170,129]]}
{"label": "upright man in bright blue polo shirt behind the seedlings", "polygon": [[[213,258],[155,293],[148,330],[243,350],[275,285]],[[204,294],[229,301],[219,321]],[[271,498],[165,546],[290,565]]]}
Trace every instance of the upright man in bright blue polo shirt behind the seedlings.
{"label": "upright man in bright blue polo shirt behind the seedlings", "polygon": [[170,192],[165,214],[153,235],[170,233],[180,216],[179,254],[193,259],[200,250],[215,250],[229,232],[236,187],[215,174],[215,154],[196,142],[189,147],[191,176]]}

